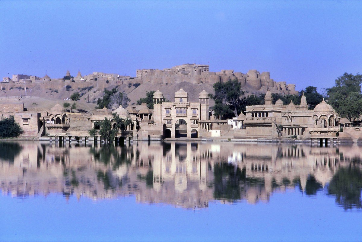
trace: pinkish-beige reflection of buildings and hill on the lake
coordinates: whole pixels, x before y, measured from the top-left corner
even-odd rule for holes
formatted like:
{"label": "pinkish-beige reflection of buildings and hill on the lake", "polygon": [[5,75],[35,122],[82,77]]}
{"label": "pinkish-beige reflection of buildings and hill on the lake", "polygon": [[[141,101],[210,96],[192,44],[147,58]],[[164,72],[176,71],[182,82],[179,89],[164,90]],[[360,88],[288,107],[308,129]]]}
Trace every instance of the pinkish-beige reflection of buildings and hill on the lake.
{"label": "pinkish-beige reflection of buildings and hill on the lake", "polygon": [[254,204],[295,185],[313,195],[350,160],[358,160],[354,164],[360,168],[362,149],[232,142],[138,142],[110,148],[0,145],[14,154],[0,155],[3,194],[61,193],[67,199],[94,200],[135,195],[141,203],[186,208],[207,207],[210,200]]}

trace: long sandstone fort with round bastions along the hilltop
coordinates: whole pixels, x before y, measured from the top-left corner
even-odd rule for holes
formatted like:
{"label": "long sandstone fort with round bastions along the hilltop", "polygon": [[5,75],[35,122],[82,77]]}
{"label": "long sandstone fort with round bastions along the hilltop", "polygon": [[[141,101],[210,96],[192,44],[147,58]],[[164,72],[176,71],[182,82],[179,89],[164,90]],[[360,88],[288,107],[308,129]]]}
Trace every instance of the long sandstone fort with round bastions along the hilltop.
{"label": "long sandstone fort with round bastions along the hilltop", "polygon": [[[269,72],[258,72],[249,70],[246,74],[234,72],[234,70],[221,70],[220,72],[210,72],[208,65],[200,64],[182,64],[163,70],[141,69],[136,70],[136,76],[124,76],[119,74],[107,74],[103,72],[93,72],[92,74],[82,76],[79,71],[76,76],[72,76],[69,71],[62,78],[51,78],[48,75],[43,77],[32,75],[12,75],[4,77],[1,83],[2,91],[9,91],[17,88],[40,88],[40,89],[61,89],[72,86],[73,89],[92,87],[99,90],[108,88],[111,85],[133,85],[133,84],[177,84],[189,82],[191,84],[208,84],[210,87],[217,82],[227,82],[237,79],[241,87],[249,88],[252,91],[266,92],[267,87],[271,92],[284,94],[297,94],[295,84],[286,82],[275,82],[270,78]],[[133,89],[126,92],[131,92]]]}

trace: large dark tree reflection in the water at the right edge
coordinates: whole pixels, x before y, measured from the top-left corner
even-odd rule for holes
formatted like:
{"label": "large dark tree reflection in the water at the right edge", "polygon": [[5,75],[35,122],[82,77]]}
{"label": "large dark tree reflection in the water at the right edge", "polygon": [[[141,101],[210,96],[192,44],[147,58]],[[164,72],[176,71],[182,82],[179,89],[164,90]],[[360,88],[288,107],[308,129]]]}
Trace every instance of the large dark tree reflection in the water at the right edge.
{"label": "large dark tree reflection in the water at the right edge", "polygon": [[336,202],[344,209],[362,208],[362,172],[353,165],[341,167],[328,186],[328,193],[336,196]]}

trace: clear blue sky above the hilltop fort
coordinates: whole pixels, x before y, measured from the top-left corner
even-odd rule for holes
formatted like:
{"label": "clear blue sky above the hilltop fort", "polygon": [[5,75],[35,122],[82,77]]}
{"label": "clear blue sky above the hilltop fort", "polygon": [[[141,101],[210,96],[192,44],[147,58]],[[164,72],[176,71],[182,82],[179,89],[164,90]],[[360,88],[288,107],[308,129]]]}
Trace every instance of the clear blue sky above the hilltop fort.
{"label": "clear blue sky above the hilltop fort", "polygon": [[0,77],[209,64],[328,88],[362,66],[362,1],[0,1]]}

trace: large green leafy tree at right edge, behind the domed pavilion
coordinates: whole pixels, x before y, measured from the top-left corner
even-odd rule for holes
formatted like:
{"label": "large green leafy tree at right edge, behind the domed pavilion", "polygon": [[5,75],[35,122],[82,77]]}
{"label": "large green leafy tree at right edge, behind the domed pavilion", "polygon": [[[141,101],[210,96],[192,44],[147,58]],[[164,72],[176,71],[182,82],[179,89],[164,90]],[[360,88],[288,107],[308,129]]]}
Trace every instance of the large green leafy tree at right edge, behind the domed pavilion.
{"label": "large green leafy tree at right edge, behind the domed pavilion", "polygon": [[350,122],[358,120],[362,113],[362,75],[345,73],[336,79],[332,88],[327,88],[328,103]]}

